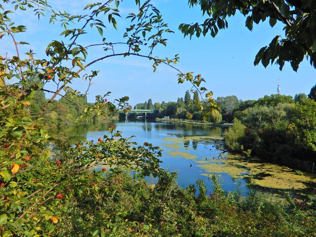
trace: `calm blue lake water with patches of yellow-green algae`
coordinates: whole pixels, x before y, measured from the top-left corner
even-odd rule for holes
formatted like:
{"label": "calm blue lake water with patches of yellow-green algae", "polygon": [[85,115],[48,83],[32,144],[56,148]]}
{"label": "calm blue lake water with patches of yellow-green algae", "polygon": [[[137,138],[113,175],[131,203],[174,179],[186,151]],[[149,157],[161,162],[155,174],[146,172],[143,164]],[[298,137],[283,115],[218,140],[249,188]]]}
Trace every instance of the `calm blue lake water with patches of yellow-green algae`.
{"label": "calm blue lake water with patches of yellow-green algae", "polygon": [[[123,137],[134,135],[133,141],[140,145],[149,142],[154,146],[160,146],[163,149],[160,158],[163,162],[160,166],[178,172],[179,186],[185,188],[190,184],[195,184],[197,179],[202,179],[210,191],[212,184],[209,176],[215,173],[225,191],[235,191],[238,188],[242,196],[247,195],[246,184],[249,182],[249,177],[243,175],[251,169],[245,167],[244,163],[225,163],[225,158],[219,158],[221,151],[216,150],[216,142],[207,138],[207,136],[220,137],[225,128],[168,122],[112,122],[111,124],[98,123],[67,127],[61,131],[75,140],[86,138],[88,141],[97,141],[99,137],[108,133],[107,128],[110,125],[113,125],[116,130],[122,131]],[[253,170],[265,168],[261,167],[260,163],[250,164]],[[271,165],[267,164],[267,170],[274,169],[274,166]],[[258,166],[260,166],[260,169],[258,169]],[[288,170],[284,167],[277,166],[277,169],[278,171],[273,173],[273,182],[277,184],[276,187],[271,186],[269,180],[263,182],[265,179],[260,177],[258,179],[259,185],[255,185],[254,188],[264,194],[273,194],[274,197],[284,196],[285,191],[299,197],[315,197],[316,179],[313,175],[304,175],[304,178],[306,178],[304,182],[299,180],[301,183],[296,184],[296,180],[303,176],[298,176],[293,172],[288,173]],[[291,183],[285,183],[288,187],[285,186],[284,188],[280,185],[282,179],[285,178],[284,182],[289,180],[286,177],[290,177]],[[149,179],[149,182],[154,182],[154,180]],[[296,190],[296,185],[300,189]],[[292,186],[294,189],[289,189]]]}

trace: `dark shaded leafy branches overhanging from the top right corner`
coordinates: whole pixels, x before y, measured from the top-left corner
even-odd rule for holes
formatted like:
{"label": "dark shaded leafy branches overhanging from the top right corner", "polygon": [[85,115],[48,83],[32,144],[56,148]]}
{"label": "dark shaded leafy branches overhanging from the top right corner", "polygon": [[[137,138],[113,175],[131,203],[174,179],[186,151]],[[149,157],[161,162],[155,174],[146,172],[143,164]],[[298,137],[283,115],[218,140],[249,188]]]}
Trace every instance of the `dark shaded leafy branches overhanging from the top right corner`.
{"label": "dark shaded leafy branches overhanging from the top right corner", "polygon": [[[264,67],[276,63],[282,70],[289,62],[294,71],[307,56],[316,68],[316,4],[314,0],[189,0],[190,7],[199,5],[202,14],[208,18],[203,23],[180,24],[179,29],[185,36],[205,36],[210,32],[215,37],[219,30],[228,28],[227,17],[236,12],[246,17],[246,27],[251,31],[253,22],[259,24],[269,19],[271,27],[277,22],[284,24],[280,32],[269,44],[262,47],[255,57],[254,64],[261,62]],[[285,35],[285,37],[281,37]]]}

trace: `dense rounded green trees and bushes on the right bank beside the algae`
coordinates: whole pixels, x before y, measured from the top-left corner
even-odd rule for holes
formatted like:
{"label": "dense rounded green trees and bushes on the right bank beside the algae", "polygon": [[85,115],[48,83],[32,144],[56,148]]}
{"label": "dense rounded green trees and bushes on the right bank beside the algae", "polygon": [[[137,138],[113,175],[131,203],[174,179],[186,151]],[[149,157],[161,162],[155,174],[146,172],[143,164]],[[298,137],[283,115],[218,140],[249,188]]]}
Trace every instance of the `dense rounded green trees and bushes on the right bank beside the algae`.
{"label": "dense rounded green trees and bushes on the right bank beside the algae", "polygon": [[231,151],[312,170],[316,161],[316,86],[306,94],[239,102],[225,134]]}

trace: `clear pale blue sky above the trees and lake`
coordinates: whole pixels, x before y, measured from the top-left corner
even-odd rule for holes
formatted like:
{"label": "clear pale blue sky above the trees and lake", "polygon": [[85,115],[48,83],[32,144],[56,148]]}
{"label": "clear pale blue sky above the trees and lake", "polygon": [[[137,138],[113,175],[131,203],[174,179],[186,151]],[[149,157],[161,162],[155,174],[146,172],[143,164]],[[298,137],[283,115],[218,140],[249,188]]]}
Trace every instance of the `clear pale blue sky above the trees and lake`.
{"label": "clear pale blue sky above the trees and lake", "polygon": [[[54,8],[65,10],[71,14],[86,14],[83,7],[88,0],[52,0],[48,3]],[[287,63],[282,71],[277,65],[269,65],[266,69],[260,64],[254,67],[253,61],[258,50],[268,45],[273,37],[282,35],[283,25],[278,23],[271,28],[268,21],[254,25],[250,32],[245,27],[245,18],[236,15],[229,19],[229,28],[220,31],[213,39],[210,35],[199,39],[184,38],[178,31],[181,23],[202,22],[200,10],[189,8],[186,0],[153,0],[160,10],[166,23],[175,34],[167,35],[167,47],[160,46],[155,49],[153,56],[173,57],[180,55],[177,67],[183,72],[201,74],[206,79],[205,87],[214,93],[214,97],[236,95],[238,99],[258,99],[264,95],[276,93],[277,80],[281,80],[281,93],[294,96],[296,93],[308,94],[311,87],[316,84],[316,71],[305,60],[298,70],[294,72]],[[104,37],[108,42],[121,41],[125,28],[129,26],[125,16],[129,12],[136,12],[134,0],[124,0],[120,4],[122,18],[117,19],[118,31],[111,26],[104,30]],[[51,40],[60,40],[62,29],[56,25],[48,25],[48,20],[39,21],[32,11],[19,13],[13,17],[18,24],[27,26],[26,33],[17,36],[18,41],[28,41],[31,48],[39,57],[45,57],[45,48]],[[108,24],[107,19],[104,20]],[[82,23],[80,23],[81,26]],[[78,27],[77,26],[77,27]],[[96,30],[95,30],[96,31]],[[89,45],[102,42],[97,32],[89,30],[90,34],[80,36],[79,43]],[[1,40],[1,54],[14,54],[14,48],[9,38]],[[30,47],[21,47],[26,52]],[[102,48],[93,48],[87,62],[106,55]],[[87,71],[100,70],[89,91],[88,101],[94,101],[94,96],[112,91],[110,99],[120,96],[129,96],[130,104],[142,103],[151,98],[153,102],[176,101],[183,97],[185,91],[190,89],[189,83],[178,85],[177,72],[167,66],[159,66],[153,73],[151,61],[137,57],[114,57],[95,64]],[[73,86],[84,91],[87,82],[76,79]],[[53,89],[53,85],[48,85]]]}

